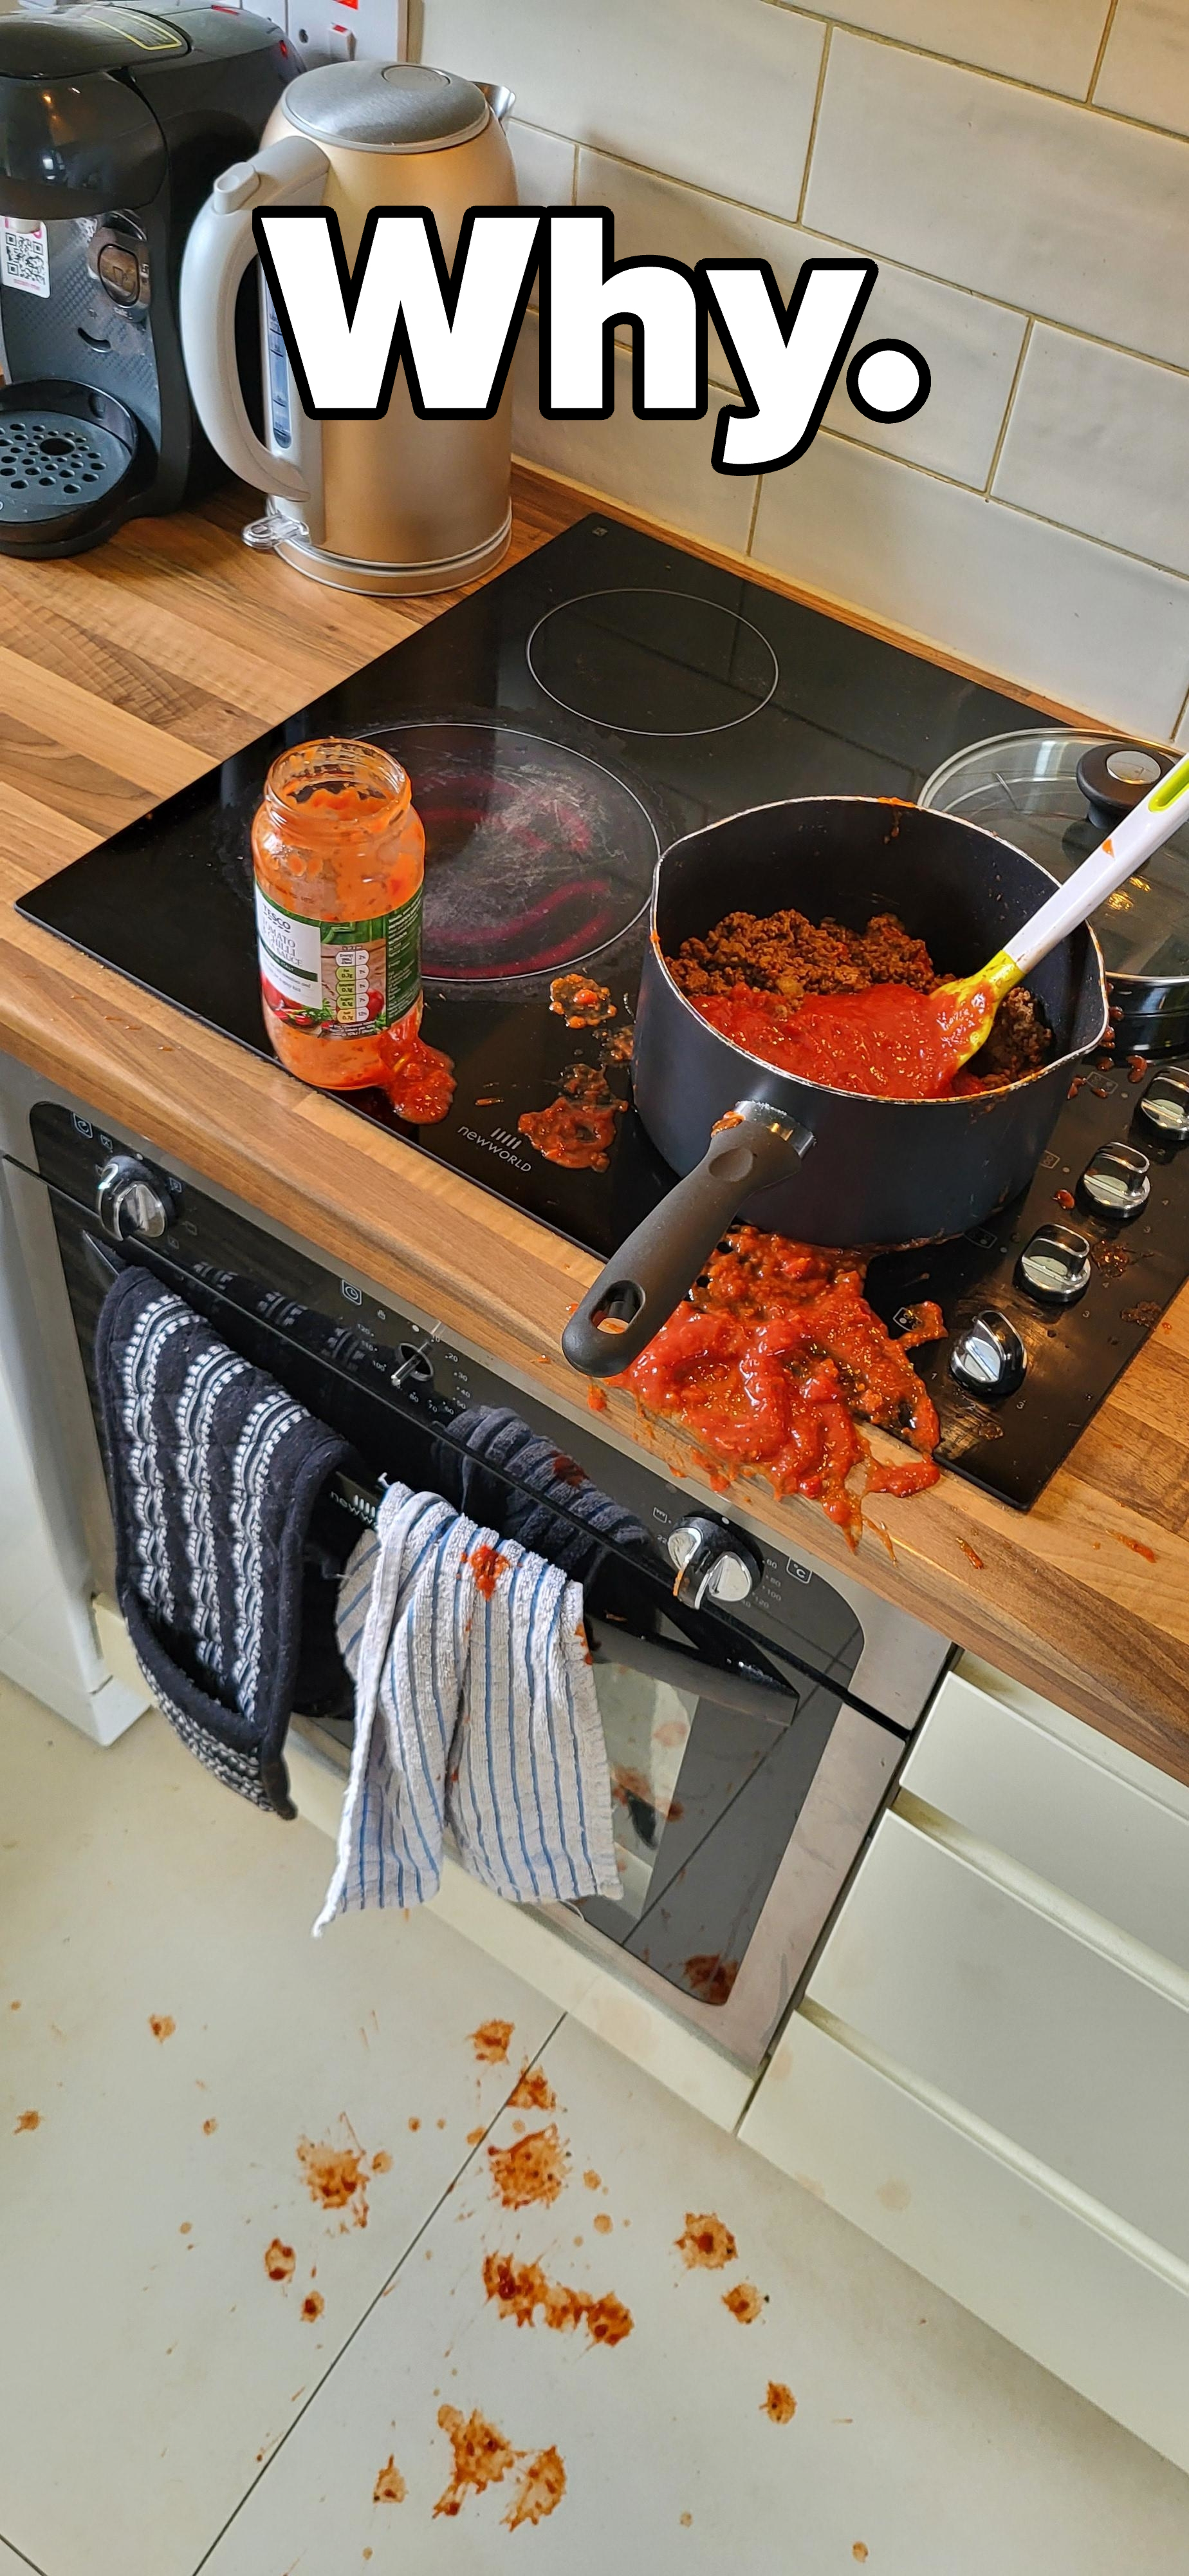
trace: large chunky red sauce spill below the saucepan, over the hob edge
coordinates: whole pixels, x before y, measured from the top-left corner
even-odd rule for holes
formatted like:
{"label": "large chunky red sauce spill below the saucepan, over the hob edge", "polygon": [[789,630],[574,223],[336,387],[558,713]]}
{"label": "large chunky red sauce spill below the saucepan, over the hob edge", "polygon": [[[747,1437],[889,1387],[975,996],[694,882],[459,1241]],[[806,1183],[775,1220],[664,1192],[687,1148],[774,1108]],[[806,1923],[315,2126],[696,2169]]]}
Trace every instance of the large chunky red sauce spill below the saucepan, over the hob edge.
{"label": "large chunky red sauce spill below the saucepan, over the hob edge", "polygon": [[[759,1468],[775,1494],[806,1494],[857,1546],[860,1497],[919,1494],[937,1484],[937,1409],[908,1350],[945,1332],[934,1303],[893,1340],[862,1296],[862,1265],[782,1234],[739,1226],[703,1283],[613,1383],[654,1414],[682,1422],[710,1463]],[[854,1417],[901,1430],[919,1458],[872,1458]]]}

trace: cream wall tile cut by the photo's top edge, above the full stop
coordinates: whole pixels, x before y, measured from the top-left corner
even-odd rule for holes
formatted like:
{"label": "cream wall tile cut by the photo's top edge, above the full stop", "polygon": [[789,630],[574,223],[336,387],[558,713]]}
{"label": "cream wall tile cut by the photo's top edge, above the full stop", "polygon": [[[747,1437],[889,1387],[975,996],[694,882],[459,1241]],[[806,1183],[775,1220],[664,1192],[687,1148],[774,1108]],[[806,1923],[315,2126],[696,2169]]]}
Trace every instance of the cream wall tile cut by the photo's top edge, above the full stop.
{"label": "cream wall tile cut by the photo's top edge, above the full stop", "polygon": [[1109,0],[826,0],[829,18],[872,36],[1011,72],[1040,90],[1086,98]]}

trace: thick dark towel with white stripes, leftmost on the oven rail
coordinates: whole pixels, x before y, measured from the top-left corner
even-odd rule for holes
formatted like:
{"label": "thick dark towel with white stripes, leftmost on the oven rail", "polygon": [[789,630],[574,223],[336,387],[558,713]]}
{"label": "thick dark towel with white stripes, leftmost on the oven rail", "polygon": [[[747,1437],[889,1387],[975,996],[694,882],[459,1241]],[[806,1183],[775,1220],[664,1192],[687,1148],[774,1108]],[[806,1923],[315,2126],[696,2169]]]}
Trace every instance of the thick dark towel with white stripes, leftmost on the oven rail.
{"label": "thick dark towel with white stripes, leftmost on the oven rail", "polygon": [[296,1816],[283,1741],[301,1667],[332,1649],[304,1543],[347,1443],[134,1262],[103,1298],[95,1376],[116,1592],[152,1698],[226,1788]]}

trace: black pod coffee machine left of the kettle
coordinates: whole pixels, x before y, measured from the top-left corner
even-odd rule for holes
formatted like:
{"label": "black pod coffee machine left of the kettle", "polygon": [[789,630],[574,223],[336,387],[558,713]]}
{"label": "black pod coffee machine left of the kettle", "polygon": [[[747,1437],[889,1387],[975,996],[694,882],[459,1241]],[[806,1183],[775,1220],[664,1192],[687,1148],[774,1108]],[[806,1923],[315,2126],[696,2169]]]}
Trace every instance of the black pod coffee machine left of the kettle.
{"label": "black pod coffee machine left of the kettle", "polygon": [[[180,260],[299,70],[281,28],[237,8],[0,15],[0,554],[80,554],[219,479],[185,384]],[[257,340],[242,358],[252,384]]]}

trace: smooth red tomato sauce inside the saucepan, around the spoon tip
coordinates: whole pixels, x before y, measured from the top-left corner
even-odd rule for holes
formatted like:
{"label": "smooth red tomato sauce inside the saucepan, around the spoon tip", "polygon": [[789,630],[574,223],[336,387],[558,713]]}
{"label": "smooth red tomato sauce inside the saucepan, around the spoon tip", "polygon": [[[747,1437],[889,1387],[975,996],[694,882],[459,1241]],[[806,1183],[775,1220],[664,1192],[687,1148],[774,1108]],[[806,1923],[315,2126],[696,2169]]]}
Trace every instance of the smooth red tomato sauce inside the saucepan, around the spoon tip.
{"label": "smooth red tomato sauce inside the saucepan, around the spoon tip", "polygon": [[988,1012],[986,992],[973,992],[960,1010],[950,997],[914,992],[911,984],[811,992],[800,1002],[736,984],[723,994],[690,994],[690,1002],[749,1056],[834,1092],[945,1100],[983,1087],[978,1074],[957,1066]]}

